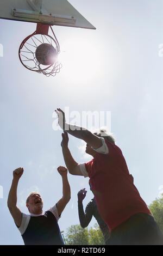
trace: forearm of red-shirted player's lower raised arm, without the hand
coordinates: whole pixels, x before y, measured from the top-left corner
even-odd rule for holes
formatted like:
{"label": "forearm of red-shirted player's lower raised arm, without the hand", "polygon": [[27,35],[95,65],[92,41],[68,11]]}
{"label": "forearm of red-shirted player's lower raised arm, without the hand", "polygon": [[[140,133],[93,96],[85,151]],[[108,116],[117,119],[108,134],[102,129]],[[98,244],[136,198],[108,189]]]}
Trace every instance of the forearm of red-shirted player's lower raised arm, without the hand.
{"label": "forearm of red-shirted player's lower raised arm, without the hand", "polygon": [[62,154],[64,156],[65,164],[68,172],[73,174],[73,169],[78,165],[78,163],[73,159],[68,147],[62,147]]}

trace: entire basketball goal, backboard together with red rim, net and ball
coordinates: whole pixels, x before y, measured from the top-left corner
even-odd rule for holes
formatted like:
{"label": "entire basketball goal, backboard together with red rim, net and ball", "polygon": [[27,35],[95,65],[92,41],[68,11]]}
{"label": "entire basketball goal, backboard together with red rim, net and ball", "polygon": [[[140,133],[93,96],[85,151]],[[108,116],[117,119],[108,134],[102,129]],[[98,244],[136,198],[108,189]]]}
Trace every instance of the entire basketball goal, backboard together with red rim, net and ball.
{"label": "entire basketball goal, backboard together with red rim, net and ball", "polygon": [[53,25],[96,29],[66,0],[0,0],[0,19],[36,23],[36,31],[21,42],[18,56],[25,68],[46,76],[55,76],[62,66]]}

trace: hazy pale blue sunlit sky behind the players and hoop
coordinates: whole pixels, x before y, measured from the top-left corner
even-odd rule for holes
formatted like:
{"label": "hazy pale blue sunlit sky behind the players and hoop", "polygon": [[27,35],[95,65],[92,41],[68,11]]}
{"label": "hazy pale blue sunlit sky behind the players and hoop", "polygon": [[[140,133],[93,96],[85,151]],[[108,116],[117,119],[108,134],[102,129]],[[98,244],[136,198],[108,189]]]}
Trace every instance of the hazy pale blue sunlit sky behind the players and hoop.
{"label": "hazy pale blue sunlit sky behind the players and hoop", "polygon": [[[54,109],[58,107],[79,114],[109,111],[111,132],[147,205],[162,189],[163,57],[159,57],[159,45],[163,44],[163,2],[69,2],[96,30],[53,26],[62,60],[55,77],[29,71],[18,59],[18,48],[35,31],[35,23],[0,20],[1,245],[23,245],[7,208],[15,168],[24,168],[17,191],[22,212],[28,214],[25,201],[31,191],[41,194],[43,210],[62,196],[57,172],[58,166],[65,166],[61,131],[52,127]],[[82,141],[69,137],[74,159],[79,163],[91,160],[83,151]],[[72,196],[59,220],[60,230],[65,233],[72,224],[79,224],[78,191],[88,191],[84,208],[93,197],[88,178],[68,174],[68,179]],[[95,223],[92,218],[89,227]]]}

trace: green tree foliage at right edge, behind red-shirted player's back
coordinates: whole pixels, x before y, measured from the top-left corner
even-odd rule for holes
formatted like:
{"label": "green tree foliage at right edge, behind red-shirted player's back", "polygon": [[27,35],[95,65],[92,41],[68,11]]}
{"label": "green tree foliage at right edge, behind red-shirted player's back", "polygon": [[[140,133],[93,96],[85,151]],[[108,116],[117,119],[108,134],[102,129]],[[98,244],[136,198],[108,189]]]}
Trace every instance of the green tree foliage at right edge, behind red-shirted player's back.
{"label": "green tree foliage at right edge, behind red-shirted player's back", "polygon": [[163,193],[160,198],[156,198],[150,205],[149,210],[152,212],[156,223],[158,223],[163,233]]}

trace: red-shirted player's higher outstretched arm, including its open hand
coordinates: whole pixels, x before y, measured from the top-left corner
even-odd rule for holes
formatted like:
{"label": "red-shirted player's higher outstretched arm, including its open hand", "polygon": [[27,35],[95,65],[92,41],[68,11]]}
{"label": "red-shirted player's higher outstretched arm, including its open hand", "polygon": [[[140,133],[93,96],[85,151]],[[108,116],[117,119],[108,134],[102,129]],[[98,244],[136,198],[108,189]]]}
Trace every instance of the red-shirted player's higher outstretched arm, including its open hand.
{"label": "red-shirted player's higher outstretched arm, including its open hand", "polygon": [[70,133],[76,138],[83,139],[83,141],[94,149],[98,149],[102,146],[102,141],[98,136],[94,135],[83,127],[67,124],[65,120],[65,113],[60,108],[57,108],[55,112],[58,114],[58,123],[61,129]]}

